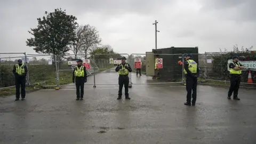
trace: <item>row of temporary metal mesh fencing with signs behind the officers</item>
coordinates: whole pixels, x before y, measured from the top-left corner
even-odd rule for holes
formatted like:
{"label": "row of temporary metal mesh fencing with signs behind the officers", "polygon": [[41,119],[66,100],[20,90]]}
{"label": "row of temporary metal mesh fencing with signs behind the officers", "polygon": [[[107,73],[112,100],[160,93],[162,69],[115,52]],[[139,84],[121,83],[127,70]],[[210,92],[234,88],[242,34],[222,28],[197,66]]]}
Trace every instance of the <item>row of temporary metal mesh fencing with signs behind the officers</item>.
{"label": "row of temporary metal mesh fencing with signs behind the officers", "polygon": [[[72,76],[76,59],[84,60],[87,75],[93,76],[93,82],[86,85],[118,85],[118,76],[115,68],[121,63],[121,57],[126,57],[130,63],[132,73],[129,73],[130,83],[133,84],[170,84],[185,83],[183,65],[186,54],[95,54],[85,59],[84,54],[26,54],[26,53],[0,53],[0,89],[14,87],[13,66],[18,59],[22,59],[28,68],[27,84],[42,86],[65,86],[74,85]],[[212,84],[229,83],[229,63],[234,55],[239,56],[239,61],[246,67],[241,75],[242,84],[256,84],[256,54],[250,52],[205,52],[203,54],[192,54],[198,63],[200,75],[198,81],[212,82]],[[181,62],[179,62],[181,61]],[[153,76],[138,79],[135,74],[137,70],[142,74]],[[101,72],[99,74],[95,74]],[[108,73],[108,76],[104,75]],[[113,76],[112,76],[113,75]],[[248,78],[250,78],[248,81]],[[167,79],[167,81],[166,81]],[[249,82],[249,83],[248,83]]]}

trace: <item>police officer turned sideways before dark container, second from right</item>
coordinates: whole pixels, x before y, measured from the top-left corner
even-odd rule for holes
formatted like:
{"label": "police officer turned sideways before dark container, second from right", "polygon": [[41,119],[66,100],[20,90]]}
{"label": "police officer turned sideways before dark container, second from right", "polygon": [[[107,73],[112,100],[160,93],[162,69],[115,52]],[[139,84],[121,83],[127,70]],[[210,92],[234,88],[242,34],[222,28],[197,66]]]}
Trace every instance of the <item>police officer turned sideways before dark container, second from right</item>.
{"label": "police officer turned sideways before dark container, second from right", "polygon": [[[197,63],[191,59],[192,54],[187,54],[184,62],[184,73],[186,75],[186,89],[187,89],[187,102],[184,103],[186,106],[195,106],[196,103],[196,88],[197,88],[197,77],[199,76],[199,67]],[[193,93],[192,93],[193,90]],[[192,95],[192,101],[191,101]]]}

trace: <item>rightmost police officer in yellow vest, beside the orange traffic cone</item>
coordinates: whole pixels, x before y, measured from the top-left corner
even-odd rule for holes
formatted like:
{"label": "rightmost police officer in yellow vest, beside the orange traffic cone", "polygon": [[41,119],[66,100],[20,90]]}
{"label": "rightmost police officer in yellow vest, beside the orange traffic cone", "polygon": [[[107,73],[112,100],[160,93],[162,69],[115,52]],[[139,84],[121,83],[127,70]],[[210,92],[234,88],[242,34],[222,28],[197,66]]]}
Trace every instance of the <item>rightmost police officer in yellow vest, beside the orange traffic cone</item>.
{"label": "rightmost police officer in yellow vest, beside the orange traffic cone", "polygon": [[231,99],[231,95],[234,91],[233,99],[234,100],[240,100],[238,95],[238,89],[241,82],[241,74],[242,69],[244,69],[244,66],[241,65],[241,63],[238,62],[238,57],[234,56],[233,61],[229,63],[229,73],[230,73],[230,87],[228,91],[228,99]]}

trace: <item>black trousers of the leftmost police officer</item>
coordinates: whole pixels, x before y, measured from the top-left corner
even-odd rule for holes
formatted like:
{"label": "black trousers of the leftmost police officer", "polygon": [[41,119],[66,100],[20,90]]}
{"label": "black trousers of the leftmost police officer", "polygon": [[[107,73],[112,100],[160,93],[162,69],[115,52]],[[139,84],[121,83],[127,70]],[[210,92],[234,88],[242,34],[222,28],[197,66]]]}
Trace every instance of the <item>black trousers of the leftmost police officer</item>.
{"label": "black trousers of the leftmost police officer", "polygon": [[15,87],[16,87],[16,98],[20,98],[20,88],[21,88],[21,98],[26,97],[26,77],[25,76],[15,76]]}

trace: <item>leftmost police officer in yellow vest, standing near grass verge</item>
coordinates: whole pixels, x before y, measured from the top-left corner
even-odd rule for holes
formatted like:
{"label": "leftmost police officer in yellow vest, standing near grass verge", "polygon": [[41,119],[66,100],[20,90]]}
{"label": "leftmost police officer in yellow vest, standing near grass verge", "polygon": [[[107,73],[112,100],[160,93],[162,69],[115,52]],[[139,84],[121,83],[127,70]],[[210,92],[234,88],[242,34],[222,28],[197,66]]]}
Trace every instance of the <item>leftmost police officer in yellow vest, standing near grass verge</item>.
{"label": "leftmost police officer in yellow vest, standing near grass verge", "polygon": [[16,87],[16,99],[18,101],[20,99],[20,87],[21,87],[21,100],[25,100],[26,96],[26,76],[28,74],[28,69],[22,60],[18,60],[18,64],[14,65],[12,73],[15,77],[15,87]]}

